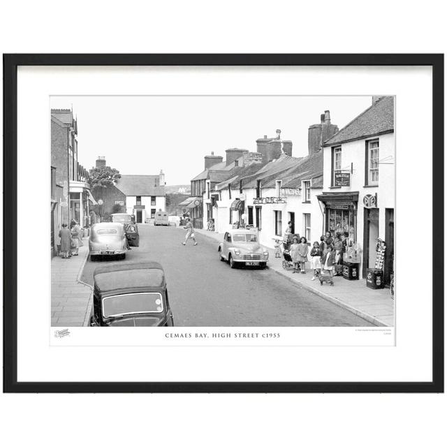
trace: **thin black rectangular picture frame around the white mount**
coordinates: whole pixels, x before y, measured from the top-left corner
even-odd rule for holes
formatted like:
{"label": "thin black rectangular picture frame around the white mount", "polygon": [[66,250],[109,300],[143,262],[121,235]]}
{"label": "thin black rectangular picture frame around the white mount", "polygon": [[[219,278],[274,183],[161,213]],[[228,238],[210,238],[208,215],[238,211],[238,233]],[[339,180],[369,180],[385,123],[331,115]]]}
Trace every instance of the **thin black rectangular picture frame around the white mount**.
{"label": "thin black rectangular picture frame around the white mount", "polygon": [[[3,54],[3,391],[6,393],[443,393],[444,235],[432,245],[432,381],[19,382],[17,381],[17,67],[431,66],[433,231],[444,226],[444,54]],[[435,233],[434,233],[435,234]],[[416,360],[415,360],[416,361]]]}

